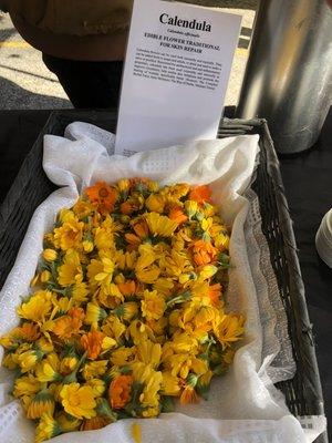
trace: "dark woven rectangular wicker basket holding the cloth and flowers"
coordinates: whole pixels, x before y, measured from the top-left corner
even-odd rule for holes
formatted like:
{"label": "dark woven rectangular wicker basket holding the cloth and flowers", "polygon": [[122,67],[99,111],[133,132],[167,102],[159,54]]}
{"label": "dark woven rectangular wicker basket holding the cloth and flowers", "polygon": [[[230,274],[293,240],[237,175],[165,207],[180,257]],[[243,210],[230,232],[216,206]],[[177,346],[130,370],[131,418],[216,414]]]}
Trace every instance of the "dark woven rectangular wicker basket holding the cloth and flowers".
{"label": "dark woven rectangular wicker basket holding the cloth and flowers", "polygon": [[[51,114],[0,208],[0,288],[14,264],[33,212],[55,189],[42,168],[43,135],[63,135],[65,126],[74,121],[93,123],[114,132],[116,114],[106,111]],[[278,383],[278,388],[284,393],[292,414],[321,415],[324,406],[312,329],[278,158],[264,120],[221,121],[219,137],[242,134],[260,135],[260,163],[252,189],[259,198],[262,231],[269,244],[297,363],[295,377]],[[317,442],[326,443],[326,434]]]}

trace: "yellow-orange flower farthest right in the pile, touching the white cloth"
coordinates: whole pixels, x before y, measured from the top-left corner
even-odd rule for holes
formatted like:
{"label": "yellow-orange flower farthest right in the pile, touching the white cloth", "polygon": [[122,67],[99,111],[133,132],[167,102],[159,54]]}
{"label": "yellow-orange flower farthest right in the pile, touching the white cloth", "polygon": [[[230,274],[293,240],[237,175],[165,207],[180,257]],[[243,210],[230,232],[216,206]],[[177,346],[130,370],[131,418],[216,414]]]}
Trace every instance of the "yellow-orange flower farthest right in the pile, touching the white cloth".
{"label": "yellow-orange flower farthest right in the pile, touching the white cloth", "polygon": [[242,338],[245,332],[245,318],[236,313],[224,316],[214,327],[214,332],[222,346],[222,349],[230,347],[232,342]]}

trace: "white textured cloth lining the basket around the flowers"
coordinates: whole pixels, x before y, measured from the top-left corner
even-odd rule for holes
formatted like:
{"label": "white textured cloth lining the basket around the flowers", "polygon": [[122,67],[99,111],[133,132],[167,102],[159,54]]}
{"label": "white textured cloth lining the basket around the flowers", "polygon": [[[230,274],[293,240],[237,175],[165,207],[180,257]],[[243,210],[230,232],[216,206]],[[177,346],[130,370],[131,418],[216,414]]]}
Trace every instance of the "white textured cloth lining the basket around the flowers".
{"label": "white textured cloth lining the basket around the flowers", "polygon": [[[59,186],[35,210],[17,261],[0,292],[0,334],[18,324],[15,308],[34,275],[42,237],[52,229],[62,207],[71,207],[81,190],[96,181],[148,176],[162,184],[210,184],[225,222],[232,226],[227,300],[246,315],[246,337],[234,365],[212,381],[210,396],[198,405],[178,408],[153,420],[123,420],[102,430],[63,434],[52,442],[104,443],[133,441],[132,423],[139,422],[143,443],[302,443],[325,429],[323,416],[300,421],[286,406],[273,382],[291,378],[294,363],[287,337],[287,319],[260,229],[257,196],[248,190],[255,173],[258,136],[198,141],[137,153],[113,155],[114,135],[86,123],[69,125],[65,137],[46,135],[43,166]],[[252,278],[255,276],[255,278]],[[278,301],[279,300],[279,301]],[[279,305],[278,305],[279,303]],[[3,350],[0,349],[2,359]],[[9,395],[11,374],[0,370],[0,442],[30,443],[34,425]]]}

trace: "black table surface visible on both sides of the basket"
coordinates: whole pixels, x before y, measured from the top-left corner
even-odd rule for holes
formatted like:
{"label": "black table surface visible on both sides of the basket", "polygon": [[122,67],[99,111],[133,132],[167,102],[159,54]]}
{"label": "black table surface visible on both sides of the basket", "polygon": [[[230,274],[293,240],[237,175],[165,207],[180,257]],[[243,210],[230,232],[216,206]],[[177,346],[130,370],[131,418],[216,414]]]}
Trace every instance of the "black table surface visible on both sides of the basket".
{"label": "black table surface visible on both sides of the basket", "polygon": [[[0,111],[0,204],[51,111]],[[313,148],[280,157],[325,400],[332,419],[332,269],[319,258],[314,236],[332,207],[332,110]],[[329,432],[332,441],[332,432]]]}

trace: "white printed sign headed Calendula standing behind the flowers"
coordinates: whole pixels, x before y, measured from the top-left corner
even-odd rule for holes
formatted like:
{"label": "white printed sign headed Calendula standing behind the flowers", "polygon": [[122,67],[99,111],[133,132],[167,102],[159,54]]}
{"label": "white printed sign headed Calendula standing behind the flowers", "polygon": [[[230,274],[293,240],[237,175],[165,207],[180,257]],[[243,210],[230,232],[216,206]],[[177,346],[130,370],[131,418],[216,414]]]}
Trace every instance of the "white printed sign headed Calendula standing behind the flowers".
{"label": "white printed sign headed Calendula standing behind the flowers", "polygon": [[115,152],[216,138],[241,17],[135,0]]}

